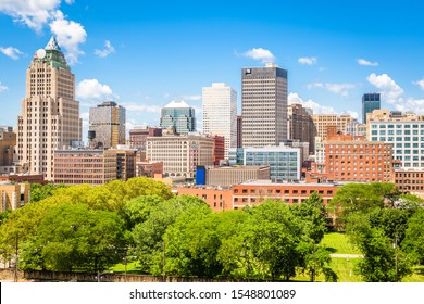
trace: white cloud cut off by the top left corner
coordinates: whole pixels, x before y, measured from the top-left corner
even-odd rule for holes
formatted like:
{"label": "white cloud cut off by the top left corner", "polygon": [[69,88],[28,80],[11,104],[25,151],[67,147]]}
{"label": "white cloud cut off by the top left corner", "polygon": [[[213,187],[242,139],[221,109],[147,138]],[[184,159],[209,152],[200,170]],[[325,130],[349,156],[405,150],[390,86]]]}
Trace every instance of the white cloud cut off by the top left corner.
{"label": "white cloud cut off by the top left corner", "polygon": [[2,0],[0,12],[39,33],[51,20],[60,3],[60,0]]}

